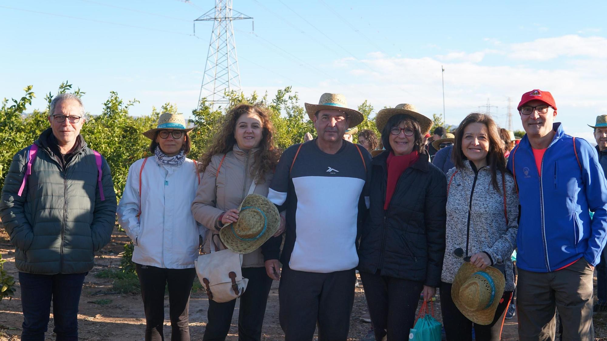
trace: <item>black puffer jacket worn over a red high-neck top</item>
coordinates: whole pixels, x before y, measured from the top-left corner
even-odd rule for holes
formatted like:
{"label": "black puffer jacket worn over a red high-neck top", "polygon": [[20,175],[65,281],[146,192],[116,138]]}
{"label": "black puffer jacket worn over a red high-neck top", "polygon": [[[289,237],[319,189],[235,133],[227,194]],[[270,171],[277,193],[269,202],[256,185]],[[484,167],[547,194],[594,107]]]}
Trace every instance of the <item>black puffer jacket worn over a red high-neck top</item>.
{"label": "black puffer jacket worn over a red high-neck top", "polygon": [[371,163],[371,207],[358,249],[358,270],[438,286],[445,253],[447,180],[426,155],[396,183],[384,210],[388,152]]}

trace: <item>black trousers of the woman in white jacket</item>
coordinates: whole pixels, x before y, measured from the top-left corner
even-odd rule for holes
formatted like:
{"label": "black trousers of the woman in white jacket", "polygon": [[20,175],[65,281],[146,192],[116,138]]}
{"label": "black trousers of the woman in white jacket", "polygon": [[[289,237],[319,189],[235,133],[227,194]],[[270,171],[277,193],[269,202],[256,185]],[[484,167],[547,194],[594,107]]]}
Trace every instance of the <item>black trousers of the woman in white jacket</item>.
{"label": "black trousers of the woman in white jacket", "polygon": [[164,287],[169,288],[171,341],[189,341],[189,295],[196,269],[165,269],[135,264],[146,313],[146,341],[164,340]]}

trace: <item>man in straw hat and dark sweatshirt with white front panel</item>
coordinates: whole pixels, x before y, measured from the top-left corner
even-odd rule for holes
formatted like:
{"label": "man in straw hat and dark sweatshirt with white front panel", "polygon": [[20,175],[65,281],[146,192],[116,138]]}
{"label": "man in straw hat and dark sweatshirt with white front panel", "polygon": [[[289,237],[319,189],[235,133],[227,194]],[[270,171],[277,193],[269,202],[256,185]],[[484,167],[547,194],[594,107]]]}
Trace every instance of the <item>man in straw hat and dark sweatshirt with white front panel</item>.
{"label": "man in straw hat and dark sweatshirt with white front panel", "polygon": [[[287,209],[280,262],[280,326],[285,340],[346,340],[358,265],[358,227],[368,209],[371,155],[345,141],[348,127],[364,116],[347,108],[343,95],[325,93],[305,104],[318,137],[291,146],[276,167],[268,198]],[[263,245],[266,271],[279,277],[282,238]]]}

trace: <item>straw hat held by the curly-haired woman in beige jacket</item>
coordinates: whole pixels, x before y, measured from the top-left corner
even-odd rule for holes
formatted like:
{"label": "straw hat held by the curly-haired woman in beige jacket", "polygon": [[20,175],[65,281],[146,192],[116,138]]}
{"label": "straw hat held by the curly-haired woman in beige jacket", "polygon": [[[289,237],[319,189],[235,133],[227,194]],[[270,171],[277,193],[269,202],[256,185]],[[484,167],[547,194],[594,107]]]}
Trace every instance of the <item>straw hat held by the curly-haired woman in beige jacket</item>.
{"label": "straw hat held by the curly-haired woman in beige jacket", "polygon": [[238,209],[238,220],[224,225],[219,238],[226,248],[237,254],[248,254],[278,231],[280,215],[276,205],[259,194],[247,195]]}

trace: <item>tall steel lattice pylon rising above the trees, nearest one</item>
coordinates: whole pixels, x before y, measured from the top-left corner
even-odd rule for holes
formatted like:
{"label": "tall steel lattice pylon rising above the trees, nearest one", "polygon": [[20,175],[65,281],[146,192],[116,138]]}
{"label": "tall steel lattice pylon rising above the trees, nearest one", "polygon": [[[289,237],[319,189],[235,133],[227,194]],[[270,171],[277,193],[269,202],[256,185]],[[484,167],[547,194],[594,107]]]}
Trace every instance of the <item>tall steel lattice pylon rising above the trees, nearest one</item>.
{"label": "tall steel lattice pylon rising above the trees, nearest one", "polygon": [[232,25],[232,21],[240,19],[253,18],[232,10],[232,0],[215,0],[214,8],[194,20],[194,24],[196,21],[214,21],[197,106],[200,106],[203,96],[209,99],[212,106],[228,104],[223,93],[226,90],[240,90],[238,56]]}

